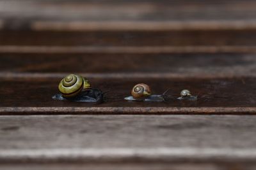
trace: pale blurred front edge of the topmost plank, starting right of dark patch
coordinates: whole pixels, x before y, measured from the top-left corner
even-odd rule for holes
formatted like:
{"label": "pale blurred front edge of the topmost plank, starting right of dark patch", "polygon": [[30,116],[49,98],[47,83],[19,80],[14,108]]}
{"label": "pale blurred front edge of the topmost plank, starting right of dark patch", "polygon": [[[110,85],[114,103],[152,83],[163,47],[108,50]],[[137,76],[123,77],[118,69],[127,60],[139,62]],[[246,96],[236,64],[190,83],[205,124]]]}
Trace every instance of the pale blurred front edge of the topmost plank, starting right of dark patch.
{"label": "pale blurred front edge of the topmost plank, starting right of dark patch", "polygon": [[189,21],[35,21],[33,31],[179,31],[256,29],[255,20]]}

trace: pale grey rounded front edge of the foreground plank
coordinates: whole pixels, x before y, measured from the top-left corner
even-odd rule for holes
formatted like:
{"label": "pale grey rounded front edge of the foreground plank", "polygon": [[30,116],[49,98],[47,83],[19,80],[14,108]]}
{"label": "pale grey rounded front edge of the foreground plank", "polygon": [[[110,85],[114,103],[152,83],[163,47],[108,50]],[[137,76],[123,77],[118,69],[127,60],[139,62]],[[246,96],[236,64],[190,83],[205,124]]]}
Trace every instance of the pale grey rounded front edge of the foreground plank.
{"label": "pale grey rounded front edge of the foreground plank", "polygon": [[58,148],[39,150],[0,150],[0,162],[253,162],[256,150],[234,148]]}

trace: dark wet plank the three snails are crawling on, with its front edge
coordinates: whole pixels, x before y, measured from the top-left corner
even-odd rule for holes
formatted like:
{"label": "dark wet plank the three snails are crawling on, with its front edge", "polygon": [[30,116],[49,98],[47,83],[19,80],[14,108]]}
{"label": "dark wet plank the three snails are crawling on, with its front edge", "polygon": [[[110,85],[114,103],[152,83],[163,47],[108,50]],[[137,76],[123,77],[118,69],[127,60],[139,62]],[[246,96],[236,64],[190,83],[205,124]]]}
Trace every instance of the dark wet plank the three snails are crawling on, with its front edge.
{"label": "dark wet plank the three snails are crawling on, with its front edge", "polygon": [[[255,114],[255,78],[89,78],[106,94],[106,103],[54,101],[61,78],[2,78],[0,112],[4,114]],[[136,83],[147,83],[154,94],[170,90],[166,103],[127,102]],[[198,101],[178,101],[189,89]],[[235,93],[234,93],[235,92]],[[15,104],[15,105],[13,105]]]}

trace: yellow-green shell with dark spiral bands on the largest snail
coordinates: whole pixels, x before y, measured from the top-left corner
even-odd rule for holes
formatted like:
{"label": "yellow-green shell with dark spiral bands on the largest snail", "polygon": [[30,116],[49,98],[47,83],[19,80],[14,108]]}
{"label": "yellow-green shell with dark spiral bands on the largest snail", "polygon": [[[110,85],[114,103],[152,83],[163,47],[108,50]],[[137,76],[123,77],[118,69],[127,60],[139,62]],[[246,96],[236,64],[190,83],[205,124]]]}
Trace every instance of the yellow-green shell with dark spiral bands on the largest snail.
{"label": "yellow-green shell with dark spiral bands on the largest snail", "polygon": [[83,89],[89,88],[90,83],[82,76],[69,74],[60,81],[59,90],[63,97],[77,96]]}

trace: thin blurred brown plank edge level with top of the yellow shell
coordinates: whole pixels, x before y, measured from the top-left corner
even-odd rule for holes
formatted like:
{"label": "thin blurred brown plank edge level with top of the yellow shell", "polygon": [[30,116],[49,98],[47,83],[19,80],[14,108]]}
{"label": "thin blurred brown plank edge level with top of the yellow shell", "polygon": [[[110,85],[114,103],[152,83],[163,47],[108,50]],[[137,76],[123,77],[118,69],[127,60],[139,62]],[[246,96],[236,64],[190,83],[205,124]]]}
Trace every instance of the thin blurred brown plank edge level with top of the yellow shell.
{"label": "thin blurred brown plank edge level with top of the yellow shell", "polygon": [[[63,78],[68,73],[10,73],[0,72],[2,80],[38,80],[40,78]],[[218,73],[205,73],[198,71],[196,73],[76,73],[86,78],[100,78],[100,79],[120,79],[120,78],[196,78],[196,79],[213,79],[213,78],[255,78],[256,73],[245,71],[240,73],[235,71]]]}

